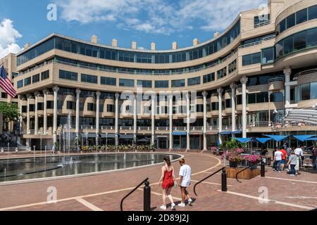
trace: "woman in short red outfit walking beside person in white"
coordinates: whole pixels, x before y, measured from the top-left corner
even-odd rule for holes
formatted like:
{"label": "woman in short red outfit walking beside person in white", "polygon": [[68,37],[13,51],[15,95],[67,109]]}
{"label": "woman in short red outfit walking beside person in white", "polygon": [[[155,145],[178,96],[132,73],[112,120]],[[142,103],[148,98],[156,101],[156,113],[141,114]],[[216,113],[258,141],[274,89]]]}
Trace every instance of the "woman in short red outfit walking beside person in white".
{"label": "woman in short red outfit walking beside person in white", "polygon": [[161,205],[161,210],[166,210],[166,196],[170,199],[171,210],[173,210],[175,204],[170,191],[172,190],[175,181],[174,167],[170,164],[170,160],[168,158],[164,158],[164,163],[165,165],[161,169],[162,174],[159,181],[159,186],[163,188],[163,205]]}

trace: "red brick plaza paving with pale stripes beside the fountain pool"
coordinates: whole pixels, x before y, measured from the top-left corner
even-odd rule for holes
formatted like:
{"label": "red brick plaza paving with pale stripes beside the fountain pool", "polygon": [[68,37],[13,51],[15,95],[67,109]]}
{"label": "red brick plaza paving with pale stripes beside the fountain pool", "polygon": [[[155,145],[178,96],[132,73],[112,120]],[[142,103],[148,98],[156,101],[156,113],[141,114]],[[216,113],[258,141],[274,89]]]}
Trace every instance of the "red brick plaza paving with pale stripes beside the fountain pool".
{"label": "red brick plaza paving with pale stripes beside the fountain pool", "polygon": [[[192,206],[176,207],[176,210],[312,210],[317,207],[317,174],[303,171],[297,177],[272,172],[268,168],[265,178],[256,177],[242,184],[228,179],[228,192],[220,191],[220,174],[216,174],[197,186],[196,181],[222,167],[222,162],[209,153],[182,153],[192,167],[192,186],[189,193],[194,199]],[[178,172],[179,165],[174,163]],[[159,210],[162,204],[161,188],[158,186],[161,165],[112,172],[71,179],[40,181],[27,184],[0,186],[0,210],[120,210],[120,200],[140,181],[149,177],[151,184],[151,207]],[[47,204],[47,188],[56,187],[58,203]],[[267,188],[268,201],[260,203],[259,197]],[[172,192],[176,203],[180,203],[180,191]],[[260,200],[263,200],[260,198]],[[124,203],[124,210],[143,209],[142,188],[133,193]],[[170,210],[170,207],[168,207]]]}

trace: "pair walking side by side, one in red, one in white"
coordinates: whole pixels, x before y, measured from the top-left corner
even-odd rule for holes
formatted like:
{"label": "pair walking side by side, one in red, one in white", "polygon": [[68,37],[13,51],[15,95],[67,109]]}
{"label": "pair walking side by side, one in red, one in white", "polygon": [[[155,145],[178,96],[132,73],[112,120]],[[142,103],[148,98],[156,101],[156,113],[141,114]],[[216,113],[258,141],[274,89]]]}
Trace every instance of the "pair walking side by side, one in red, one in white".
{"label": "pair walking side by side, one in red, one in white", "polygon": [[[163,205],[161,205],[161,210],[166,210],[166,197],[169,198],[171,203],[171,210],[175,208],[175,203],[173,201],[173,196],[170,194],[172,188],[178,186],[177,181],[175,180],[174,167],[171,165],[168,158],[164,158],[165,165],[161,169],[161,179],[159,181],[159,186],[163,188]],[[190,184],[190,176],[192,174],[192,169],[189,165],[185,165],[185,159],[180,160],[180,190],[182,191],[182,203],[178,204],[180,207],[185,207],[185,198],[188,199],[188,204],[192,203],[192,198],[189,197],[189,194],[186,188]]]}

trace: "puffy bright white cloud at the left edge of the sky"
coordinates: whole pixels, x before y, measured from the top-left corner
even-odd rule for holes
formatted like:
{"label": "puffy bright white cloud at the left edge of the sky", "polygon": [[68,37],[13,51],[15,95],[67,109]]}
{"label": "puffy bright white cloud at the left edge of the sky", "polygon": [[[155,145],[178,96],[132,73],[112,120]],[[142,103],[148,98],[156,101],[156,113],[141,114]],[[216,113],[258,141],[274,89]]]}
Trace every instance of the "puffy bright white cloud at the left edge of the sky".
{"label": "puffy bright white cloud at the left edge of the sky", "polygon": [[13,21],[4,19],[0,23],[0,58],[7,56],[8,53],[18,53],[20,46],[16,44],[16,39],[22,35],[13,28]]}

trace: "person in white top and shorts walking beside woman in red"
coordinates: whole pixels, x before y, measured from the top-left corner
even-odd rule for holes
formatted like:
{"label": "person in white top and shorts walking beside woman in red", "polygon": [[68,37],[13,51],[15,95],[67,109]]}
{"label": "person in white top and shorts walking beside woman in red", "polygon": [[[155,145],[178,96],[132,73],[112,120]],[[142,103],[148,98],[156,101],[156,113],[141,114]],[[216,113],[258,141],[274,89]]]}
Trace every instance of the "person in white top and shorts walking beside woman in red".
{"label": "person in white top and shorts walking beside woman in red", "polygon": [[189,197],[187,187],[190,185],[190,179],[192,176],[192,168],[189,165],[185,165],[185,159],[180,160],[180,190],[182,192],[182,203],[178,204],[180,207],[185,207],[185,198],[188,199],[188,204],[192,204],[192,198]]}

